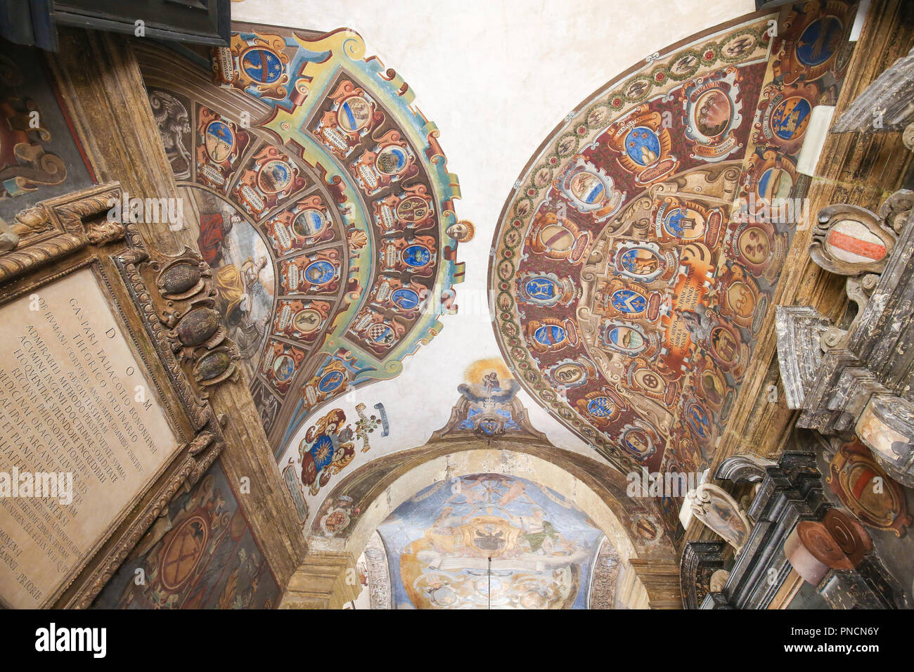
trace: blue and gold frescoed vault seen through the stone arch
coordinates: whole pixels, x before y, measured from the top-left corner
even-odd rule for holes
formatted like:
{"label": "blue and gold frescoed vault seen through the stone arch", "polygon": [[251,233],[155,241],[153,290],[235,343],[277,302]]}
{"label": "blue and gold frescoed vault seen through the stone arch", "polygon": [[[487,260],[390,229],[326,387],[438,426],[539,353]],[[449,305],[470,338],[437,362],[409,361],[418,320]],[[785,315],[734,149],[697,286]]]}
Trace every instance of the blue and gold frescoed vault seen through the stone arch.
{"label": "blue and gold frescoed vault seen through the stone arch", "polygon": [[[585,609],[602,532],[547,487],[497,474],[439,481],[377,528],[403,609]],[[491,563],[491,576],[489,559]]]}

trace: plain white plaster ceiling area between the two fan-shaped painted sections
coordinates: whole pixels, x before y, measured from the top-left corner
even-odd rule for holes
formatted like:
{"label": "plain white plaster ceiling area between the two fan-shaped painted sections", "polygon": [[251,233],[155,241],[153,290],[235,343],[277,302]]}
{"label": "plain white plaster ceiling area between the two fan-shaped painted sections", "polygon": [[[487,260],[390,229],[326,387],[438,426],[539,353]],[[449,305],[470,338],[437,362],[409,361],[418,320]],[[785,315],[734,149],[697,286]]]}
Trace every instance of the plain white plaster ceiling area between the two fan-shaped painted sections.
{"label": "plain white plaster ceiling area between the two fan-shaped painted sections", "polygon": [[[413,105],[441,128],[448,167],[461,176],[462,197],[455,208],[477,231],[473,240],[461,241],[457,252],[458,261],[466,264],[465,280],[454,285],[457,315],[442,318],[445,328],[402,360],[402,375],[313,409],[286,446],[297,448],[307,428],[332,408],[344,410],[347,421],[355,420],[359,403],[368,415],[377,415],[374,408],[382,403],[390,424],[387,445],[376,432],[368,456],[377,459],[388,450],[426,443],[445,421],[464,370],[480,358],[502,357],[492,328],[486,269],[505,194],[531,151],[569,112],[569,101],[581,100],[632,60],[744,15],[752,5],[752,0],[708,0],[696,11],[690,4],[644,0],[643,16],[635,21],[627,5],[612,0],[600,5],[600,21],[607,27],[626,22],[618,34],[613,28],[612,40],[593,29],[592,0],[547,3],[542,14],[530,13],[526,0],[433,7],[407,2],[386,5],[384,12],[354,0],[314,0],[307,7],[296,0],[233,5],[232,16],[241,21],[327,31],[346,26],[363,36],[367,53],[377,53],[386,66],[397,69],[398,81],[402,76],[409,83],[408,95],[415,93]],[[455,52],[454,45],[473,48]],[[529,399],[525,389],[518,397],[552,443],[605,462]],[[356,461],[360,457],[356,450]]]}

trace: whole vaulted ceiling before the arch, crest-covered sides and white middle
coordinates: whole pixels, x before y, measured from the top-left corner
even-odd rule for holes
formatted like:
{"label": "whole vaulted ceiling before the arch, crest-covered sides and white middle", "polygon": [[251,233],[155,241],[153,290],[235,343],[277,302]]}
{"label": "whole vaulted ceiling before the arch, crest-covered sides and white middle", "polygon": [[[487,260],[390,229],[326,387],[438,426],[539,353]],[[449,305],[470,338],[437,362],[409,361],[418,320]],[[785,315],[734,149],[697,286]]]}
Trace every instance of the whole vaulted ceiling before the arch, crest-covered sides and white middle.
{"label": "whole vaulted ceiling before the arch, crest-covered sides and white middle", "polygon": [[[645,0],[634,23],[619,5],[534,20],[513,1],[305,16],[246,0],[234,16],[260,23],[235,24],[230,48],[136,47],[315,543],[364,513],[363,467],[399,464],[449,415],[469,436],[522,414],[592,473],[713,457],[792,240],[794,219],[764,208],[804,194],[798,155],[837,97],[856,5]],[[594,26],[610,21],[625,29],[608,41]],[[460,189],[412,86],[354,30],[277,22],[354,26],[392,55],[441,123],[479,235],[456,226]],[[473,48],[457,58],[458,43]],[[626,506],[635,544],[675,529],[675,501]]]}

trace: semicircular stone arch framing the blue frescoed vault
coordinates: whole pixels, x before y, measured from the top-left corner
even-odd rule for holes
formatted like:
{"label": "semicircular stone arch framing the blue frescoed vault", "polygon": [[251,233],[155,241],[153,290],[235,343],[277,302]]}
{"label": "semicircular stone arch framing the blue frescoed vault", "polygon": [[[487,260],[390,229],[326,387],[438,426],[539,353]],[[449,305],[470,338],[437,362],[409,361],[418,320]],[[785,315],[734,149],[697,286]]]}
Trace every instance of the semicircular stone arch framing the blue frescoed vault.
{"label": "semicircular stone arch framing the blue frescoed vault", "polygon": [[[484,440],[442,443],[387,455],[362,466],[340,482],[314,517],[308,535],[309,553],[299,573],[314,578],[314,571],[305,568],[317,563],[324,568],[326,578],[332,573],[328,562],[335,563],[337,571],[344,565],[348,567],[347,563],[352,563],[365,549],[377,527],[401,503],[428,485],[456,476],[493,473],[547,486],[587,512],[619,553],[623,567],[619,581],[620,594],[624,593],[622,603],[679,606],[674,544],[663,531],[654,503],[625,495],[622,474],[589,457],[543,443],[500,441],[496,446]],[[348,510],[351,520],[345,528],[327,534],[322,519],[333,511],[341,496],[351,498]],[[634,524],[643,520],[655,526],[656,539],[649,541],[637,535]],[[650,575],[642,571],[648,561],[653,568]],[[340,584],[336,579],[331,583],[334,584],[324,586],[328,605],[338,606],[352,599],[335,597],[341,591],[346,592],[345,582]],[[292,593],[294,584],[293,579]],[[284,603],[292,606],[293,600],[294,596],[287,593]]]}

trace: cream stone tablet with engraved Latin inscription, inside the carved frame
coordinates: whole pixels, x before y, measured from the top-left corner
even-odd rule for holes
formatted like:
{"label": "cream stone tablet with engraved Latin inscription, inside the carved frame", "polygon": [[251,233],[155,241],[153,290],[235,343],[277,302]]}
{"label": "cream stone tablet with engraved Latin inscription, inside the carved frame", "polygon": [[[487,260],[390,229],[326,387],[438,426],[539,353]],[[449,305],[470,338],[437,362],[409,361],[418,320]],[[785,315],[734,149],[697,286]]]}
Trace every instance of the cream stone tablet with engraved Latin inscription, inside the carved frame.
{"label": "cream stone tablet with engraved Latin inscription, inside the carved frame", "polygon": [[180,443],[89,269],[0,307],[0,325],[0,600],[37,607]]}

